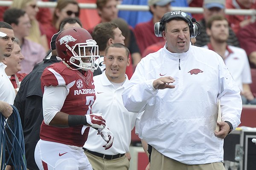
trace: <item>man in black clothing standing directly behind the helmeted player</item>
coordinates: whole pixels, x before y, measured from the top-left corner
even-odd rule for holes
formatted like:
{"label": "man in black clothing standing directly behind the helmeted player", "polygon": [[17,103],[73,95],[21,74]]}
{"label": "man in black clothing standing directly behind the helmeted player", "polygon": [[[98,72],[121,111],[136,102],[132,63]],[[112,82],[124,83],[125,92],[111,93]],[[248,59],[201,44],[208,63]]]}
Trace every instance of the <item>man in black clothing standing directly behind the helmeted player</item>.
{"label": "man in black clothing standing directly behind the helmeted player", "polygon": [[[70,27],[73,26],[68,23],[62,23],[61,29],[67,29],[68,25]],[[79,23],[76,23],[75,25],[80,26]],[[45,59],[43,63],[39,64],[23,79],[14,101],[14,106],[19,111],[23,127],[26,162],[29,170],[39,170],[35,163],[34,152],[35,146],[40,139],[39,133],[41,123],[44,120],[42,110],[43,94],[41,89],[41,75],[47,66],[60,62],[60,60],[56,58],[57,53],[55,48],[55,41],[58,34],[59,32],[52,36],[50,45],[52,49],[52,56],[49,59]]]}

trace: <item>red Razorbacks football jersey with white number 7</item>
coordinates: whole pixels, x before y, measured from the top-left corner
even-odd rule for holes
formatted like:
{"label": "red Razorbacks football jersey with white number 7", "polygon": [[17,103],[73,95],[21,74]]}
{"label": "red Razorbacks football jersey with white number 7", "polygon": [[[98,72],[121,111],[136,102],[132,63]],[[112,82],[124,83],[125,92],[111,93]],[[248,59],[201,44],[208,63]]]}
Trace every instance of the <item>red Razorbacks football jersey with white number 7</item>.
{"label": "red Razorbacks football jersey with white number 7", "polygon": [[[93,73],[91,71],[83,74],[78,70],[68,69],[60,62],[54,63],[44,69],[41,76],[41,87],[44,86],[66,86],[69,89],[66,100],[64,101],[61,112],[70,115],[85,115],[91,113],[91,106],[95,101]],[[49,98],[49,100],[51,100]],[[54,101],[52,101],[54,103]],[[69,144],[82,147],[87,140],[89,127],[81,134],[81,126],[58,128],[41,124],[40,138],[45,141],[54,141],[62,144]]]}

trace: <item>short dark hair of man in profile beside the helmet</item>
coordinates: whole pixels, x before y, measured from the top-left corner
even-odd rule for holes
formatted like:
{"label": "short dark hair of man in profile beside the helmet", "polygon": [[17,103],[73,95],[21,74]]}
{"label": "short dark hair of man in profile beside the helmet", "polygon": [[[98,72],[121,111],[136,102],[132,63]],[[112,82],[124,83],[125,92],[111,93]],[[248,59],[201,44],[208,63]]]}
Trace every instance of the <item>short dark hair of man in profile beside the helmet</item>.
{"label": "short dark hair of man in profile beside the helmet", "polygon": [[104,51],[107,48],[107,42],[110,38],[114,38],[114,29],[118,28],[116,23],[99,23],[93,29],[93,40],[97,42],[99,51]]}

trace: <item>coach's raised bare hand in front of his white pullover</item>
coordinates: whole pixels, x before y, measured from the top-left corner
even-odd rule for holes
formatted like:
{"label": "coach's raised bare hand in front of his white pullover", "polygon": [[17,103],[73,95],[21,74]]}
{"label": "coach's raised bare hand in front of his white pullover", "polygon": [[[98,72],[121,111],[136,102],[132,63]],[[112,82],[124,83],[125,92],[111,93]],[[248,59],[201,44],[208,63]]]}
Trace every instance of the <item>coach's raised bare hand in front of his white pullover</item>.
{"label": "coach's raised bare hand in front of his white pullover", "polygon": [[168,77],[161,77],[157,78],[155,81],[153,81],[153,87],[155,89],[173,89],[175,88],[174,85],[169,85],[170,83],[173,83],[175,81],[174,78],[168,76]]}

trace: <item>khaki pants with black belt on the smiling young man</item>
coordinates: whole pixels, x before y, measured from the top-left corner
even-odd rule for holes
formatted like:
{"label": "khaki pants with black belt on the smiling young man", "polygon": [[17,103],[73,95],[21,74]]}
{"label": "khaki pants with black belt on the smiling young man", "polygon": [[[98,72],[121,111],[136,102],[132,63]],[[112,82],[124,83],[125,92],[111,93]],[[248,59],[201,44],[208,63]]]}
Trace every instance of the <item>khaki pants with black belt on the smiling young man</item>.
{"label": "khaki pants with black belt on the smiling young man", "polygon": [[130,161],[125,156],[112,160],[106,160],[86,151],[84,151],[84,153],[89,159],[93,170],[128,170],[130,167]]}

